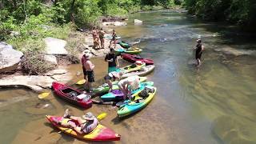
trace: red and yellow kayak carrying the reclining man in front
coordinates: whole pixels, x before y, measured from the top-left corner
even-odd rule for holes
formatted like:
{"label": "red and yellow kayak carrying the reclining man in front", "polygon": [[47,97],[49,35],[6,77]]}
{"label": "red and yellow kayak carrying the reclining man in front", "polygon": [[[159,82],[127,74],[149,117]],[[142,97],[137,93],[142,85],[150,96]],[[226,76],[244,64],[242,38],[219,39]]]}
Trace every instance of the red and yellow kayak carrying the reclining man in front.
{"label": "red and yellow kayak carrying the reclining man in front", "polygon": [[119,134],[116,134],[114,130],[107,128],[106,126],[102,126],[101,124],[98,124],[98,126],[89,134],[78,134],[75,130],[72,130],[64,126],[60,126],[56,122],[54,122],[54,119],[56,119],[58,121],[61,121],[62,123],[65,123],[71,120],[69,118],[62,118],[51,115],[46,115],[46,118],[54,127],[57,127],[58,130],[61,130],[63,133],[69,134],[74,138],[79,138],[88,141],[119,141],[121,138],[121,136]]}

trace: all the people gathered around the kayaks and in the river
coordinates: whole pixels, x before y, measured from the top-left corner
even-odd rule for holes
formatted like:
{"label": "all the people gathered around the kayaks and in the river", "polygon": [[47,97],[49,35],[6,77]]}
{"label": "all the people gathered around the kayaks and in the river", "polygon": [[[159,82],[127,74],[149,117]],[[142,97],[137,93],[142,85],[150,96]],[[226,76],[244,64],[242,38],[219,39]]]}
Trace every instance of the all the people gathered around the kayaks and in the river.
{"label": "all the people gathered around the kayaks and in the river", "polygon": [[[101,29],[102,30],[102,29]],[[97,34],[100,36],[99,39],[102,42],[102,48],[104,48],[104,33],[103,31],[99,31],[97,33],[97,30],[93,30],[93,36],[95,37],[95,41],[97,39]],[[102,35],[103,34],[103,37]],[[114,35],[114,36],[113,36]],[[111,42],[115,43],[115,37],[116,34],[113,31],[112,34],[113,38]],[[111,45],[110,42],[110,45]],[[204,50],[204,47],[202,46],[202,40],[197,40],[197,45],[195,46],[195,59],[197,60],[197,66],[201,65],[201,57],[202,57],[202,50]],[[82,56],[82,70],[84,74],[84,78],[86,79],[86,88],[87,90],[91,90],[91,83],[94,82],[94,64],[90,62],[90,51],[85,51],[85,54]],[[110,48],[110,53],[106,54],[105,61],[108,62],[108,74],[104,77],[105,82],[110,87],[109,92],[112,90],[112,81],[119,80],[118,87],[122,91],[122,93],[125,95],[124,99],[130,98],[130,94],[132,90],[136,90],[139,88],[139,77],[138,76],[132,76],[128,78],[122,78],[122,72],[117,72],[117,67],[119,66],[117,55],[114,54],[114,49]],[[94,117],[92,113],[86,113],[85,115],[82,115],[82,117],[74,117],[69,114],[69,110],[67,109],[65,111],[65,114],[63,115],[63,118],[70,118],[70,120],[66,123],[58,122],[58,125],[70,127],[78,134],[88,134],[92,130],[98,126],[98,119]],[[78,124],[76,124],[74,121],[77,121]]]}

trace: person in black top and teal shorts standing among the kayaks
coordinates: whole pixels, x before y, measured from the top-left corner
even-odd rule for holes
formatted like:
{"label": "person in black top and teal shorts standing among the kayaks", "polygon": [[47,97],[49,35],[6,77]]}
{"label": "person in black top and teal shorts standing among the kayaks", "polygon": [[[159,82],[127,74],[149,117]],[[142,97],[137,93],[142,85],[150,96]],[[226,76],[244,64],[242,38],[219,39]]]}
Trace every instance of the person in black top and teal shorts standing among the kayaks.
{"label": "person in black top and teal shorts standing among the kayaks", "polygon": [[110,48],[110,53],[106,54],[105,61],[108,62],[108,73],[116,71],[119,67],[117,55],[114,54],[114,49]]}

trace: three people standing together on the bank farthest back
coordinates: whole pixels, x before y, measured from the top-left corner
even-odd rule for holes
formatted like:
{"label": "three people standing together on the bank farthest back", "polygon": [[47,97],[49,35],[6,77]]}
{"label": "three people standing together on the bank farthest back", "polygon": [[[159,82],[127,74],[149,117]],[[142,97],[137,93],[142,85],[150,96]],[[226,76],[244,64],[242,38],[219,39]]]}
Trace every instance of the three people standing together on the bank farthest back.
{"label": "three people standing together on the bank farthest back", "polygon": [[[104,34],[106,34],[106,32],[102,29],[102,28],[96,28],[94,27],[92,30],[92,35],[93,35],[93,39],[94,39],[94,49],[95,50],[100,50],[100,49],[104,49],[105,48],[105,39],[104,39]],[[116,46],[116,38],[117,38],[117,34],[115,32],[115,30],[112,31],[112,38],[110,40],[110,46],[112,44],[114,44],[114,48]],[[109,48],[110,48],[109,46]]]}

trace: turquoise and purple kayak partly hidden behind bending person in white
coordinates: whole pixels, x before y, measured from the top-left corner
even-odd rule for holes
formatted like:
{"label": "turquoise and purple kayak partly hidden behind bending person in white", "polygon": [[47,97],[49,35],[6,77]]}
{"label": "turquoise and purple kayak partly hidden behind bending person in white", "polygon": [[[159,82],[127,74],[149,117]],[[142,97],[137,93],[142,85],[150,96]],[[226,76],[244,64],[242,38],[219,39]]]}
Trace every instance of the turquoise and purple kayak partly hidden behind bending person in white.
{"label": "turquoise and purple kayak partly hidden behind bending person in white", "polygon": [[[142,82],[141,86],[137,90],[132,90],[131,94],[135,94],[138,91],[142,91],[145,86],[154,86],[154,82]],[[124,94],[121,90],[113,90],[108,94],[102,95],[102,101],[109,102],[109,101],[120,101],[123,99]]]}

